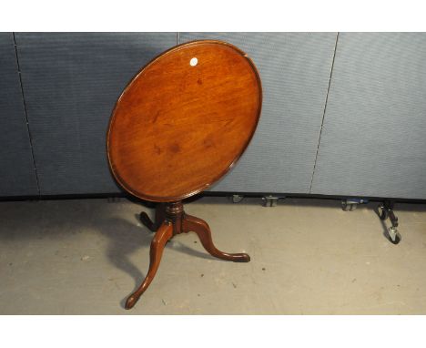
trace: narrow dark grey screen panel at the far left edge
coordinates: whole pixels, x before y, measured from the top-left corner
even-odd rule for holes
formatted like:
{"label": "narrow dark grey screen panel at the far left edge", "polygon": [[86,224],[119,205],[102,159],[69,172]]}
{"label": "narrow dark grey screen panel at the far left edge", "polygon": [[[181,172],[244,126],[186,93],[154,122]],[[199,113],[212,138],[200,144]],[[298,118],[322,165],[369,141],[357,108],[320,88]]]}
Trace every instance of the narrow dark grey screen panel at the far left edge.
{"label": "narrow dark grey screen panel at the far left edge", "polygon": [[0,196],[37,194],[14,36],[0,33]]}

